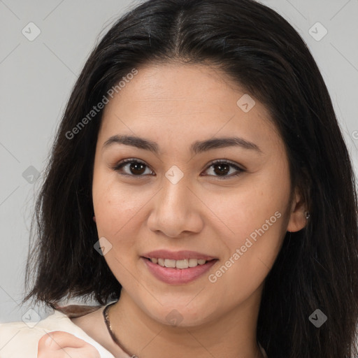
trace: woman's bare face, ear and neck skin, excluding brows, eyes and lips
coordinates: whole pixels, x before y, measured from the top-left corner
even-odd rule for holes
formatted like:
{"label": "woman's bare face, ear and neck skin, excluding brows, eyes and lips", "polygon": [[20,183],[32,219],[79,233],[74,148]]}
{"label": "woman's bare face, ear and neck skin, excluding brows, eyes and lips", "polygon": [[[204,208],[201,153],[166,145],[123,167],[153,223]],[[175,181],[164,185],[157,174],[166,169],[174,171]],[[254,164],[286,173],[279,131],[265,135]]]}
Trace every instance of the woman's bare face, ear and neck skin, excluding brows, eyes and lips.
{"label": "woman's bare face, ear and neck skin, excluding brows, eyes and lips", "polygon": [[[123,287],[120,300],[110,308],[110,322],[130,355],[263,357],[256,330],[264,280],[286,231],[305,226],[305,205],[290,186],[284,143],[268,110],[255,99],[245,113],[236,104],[243,94],[243,88],[210,66],[150,64],[138,69],[106,105],[92,194],[99,238],[112,245],[104,257]],[[103,149],[116,134],[155,141],[159,153],[117,143]],[[195,141],[234,135],[261,151],[231,146],[189,152]],[[126,158],[145,163],[141,176],[130,170],[131,164],[113,169]],[[229,166],[226,179],[220,180],[217,166],[208,165],[216,159],[227,159],[245,171],[232,176],[237,171]],[[165,176],[173,165],[183,173],[176,184]],[[277,212],[280,218],[210,282],[208,275]],[[194,250],[218,262],[194,282],[170,285],[157,280],[141,259],[157,249]],[[177,326],[166,319],[172,310],[180,315]],[[73,322],[118,354],[101,312]]]}

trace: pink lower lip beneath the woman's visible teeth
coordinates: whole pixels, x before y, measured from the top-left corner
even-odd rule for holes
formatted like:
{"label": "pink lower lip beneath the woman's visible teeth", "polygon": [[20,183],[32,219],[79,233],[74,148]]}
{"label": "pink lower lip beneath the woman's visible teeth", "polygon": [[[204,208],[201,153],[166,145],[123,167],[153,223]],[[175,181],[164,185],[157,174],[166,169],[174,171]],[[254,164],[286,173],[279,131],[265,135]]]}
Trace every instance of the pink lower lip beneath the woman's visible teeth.
{"label": "pink lower lip beneath the woman's visible teeth", "polygon": [[149,271],[162,282],[170,283],[171,285],[180,285],[196,280],[199,276],[208,272],[211,267],[217,262],[217,259],[210,260],[203,265],[188,268],[172,268],[163,267],[158,264],[153,264],[149,259],[141,257],[147,265]]}

